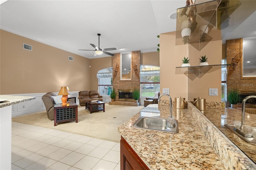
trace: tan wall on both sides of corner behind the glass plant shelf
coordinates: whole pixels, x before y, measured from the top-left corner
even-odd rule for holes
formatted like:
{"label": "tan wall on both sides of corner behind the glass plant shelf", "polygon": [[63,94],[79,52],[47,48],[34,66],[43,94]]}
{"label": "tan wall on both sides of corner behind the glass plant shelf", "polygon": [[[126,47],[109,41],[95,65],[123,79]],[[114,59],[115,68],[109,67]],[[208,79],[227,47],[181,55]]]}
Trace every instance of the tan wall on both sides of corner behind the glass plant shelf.
{"label": "tan wall on both sides of corner behind the glass plant shelf", "polygon": [[[221,64],[222,42],[208,43],[201,51],[191,45],[175,45],[176,32],[160,34],[160,93],[162,88],[170,88],[172,100],[175,97],[185,97],[193,100],[194,97],[206,98],[206,101],[221,101],[221,69],[209,71],[202,78],[188,82],[184,74],[175,74],[176,67],[180,67],[183,57],[190,59],[190,64],[198,65],[199,57],[206,55],[210,65]],[[211,72],[211,73],[210,73]],[[209,88],[218,88],[218,96],[210,97]]]}

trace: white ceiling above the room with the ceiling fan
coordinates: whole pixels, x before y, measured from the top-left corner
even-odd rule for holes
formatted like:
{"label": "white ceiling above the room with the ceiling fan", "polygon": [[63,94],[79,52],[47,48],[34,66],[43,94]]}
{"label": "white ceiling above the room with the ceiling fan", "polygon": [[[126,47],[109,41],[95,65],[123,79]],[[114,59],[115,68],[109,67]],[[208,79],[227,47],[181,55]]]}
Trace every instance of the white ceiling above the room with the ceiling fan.
{"label": "white ceiling above the room with the ceiling fan", "polygon": [[[90,43],[98,46],[98,33],[100,48],[117,49],[110,53],[144,53],[156,51],[157,35],[176,31],[176,19],[168,15],[185,5],[186,0],[8,0],[0,5],[0,28],[87,58],[95,58],[94,51],[78,49],[94,50]],[[255,18],[256,12],[223,40],[256,37]]]}

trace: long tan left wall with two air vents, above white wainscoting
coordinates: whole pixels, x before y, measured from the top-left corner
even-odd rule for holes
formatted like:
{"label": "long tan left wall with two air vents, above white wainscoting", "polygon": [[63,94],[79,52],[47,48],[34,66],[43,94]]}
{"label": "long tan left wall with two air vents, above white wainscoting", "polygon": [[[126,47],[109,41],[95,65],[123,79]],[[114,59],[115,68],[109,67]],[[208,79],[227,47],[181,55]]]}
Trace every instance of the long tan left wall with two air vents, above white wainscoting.
{"label": "long tan left wall with two air vents, above white wainscoting", "polygon": [[[90,89],[90,59],[1,30],[0,94]],[[32,45],[32,51],[23,49]],[[69,61],[68,56],[74,57]]]}

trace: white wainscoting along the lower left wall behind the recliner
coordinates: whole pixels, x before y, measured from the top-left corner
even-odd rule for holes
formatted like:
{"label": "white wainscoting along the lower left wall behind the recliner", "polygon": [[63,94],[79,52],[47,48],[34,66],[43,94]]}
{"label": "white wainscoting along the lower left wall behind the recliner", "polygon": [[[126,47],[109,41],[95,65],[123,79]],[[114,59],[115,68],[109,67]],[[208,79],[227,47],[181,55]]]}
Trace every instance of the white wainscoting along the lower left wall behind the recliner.
{"label": "white wainscoting along the lower left wall behind the recliner", "polygon": [[[58,92],[54,92],[58,95]],[[68,97],[76,97],[76,104],[79,104],[78,101],[78,91],[70,91],[70,95]],[[27,93],[27,94],[10,94],[15,96],[32,96],[36,97],[34,100],[18,103],[16,105],[12,105],[12,117],[25,115],[28,113],[36,113],[40,111],[45,111],[44,102],[42,100],[42,96],[46,93]]]}

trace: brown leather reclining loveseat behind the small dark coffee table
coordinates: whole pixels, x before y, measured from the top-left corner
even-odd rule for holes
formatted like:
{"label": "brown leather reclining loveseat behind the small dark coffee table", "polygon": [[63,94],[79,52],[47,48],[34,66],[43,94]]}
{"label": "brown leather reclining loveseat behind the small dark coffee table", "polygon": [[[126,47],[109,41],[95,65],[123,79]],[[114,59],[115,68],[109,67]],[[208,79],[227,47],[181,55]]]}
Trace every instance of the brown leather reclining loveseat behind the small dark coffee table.
{"label": "brown leather reclining loveseat behind the small dark coffee table", "polygon": [[98,90],[90,90],[90,91],[79,91],[78,100],[80,106],[85,106],[85,103],[92,100],[103,101],[102,96],[100,95]]}

